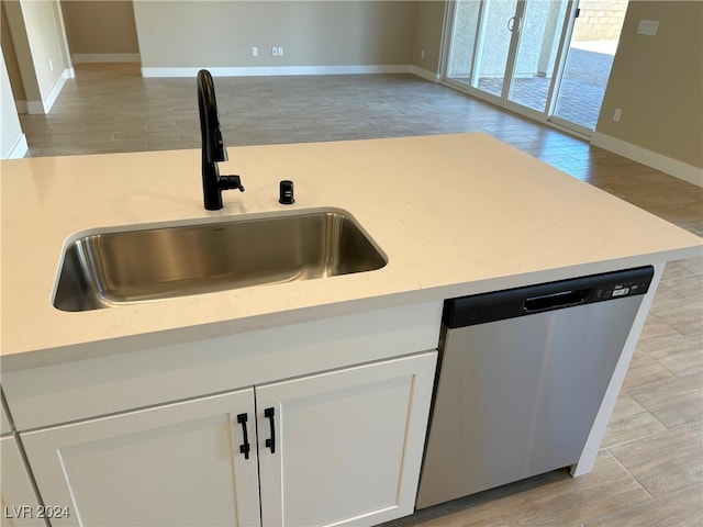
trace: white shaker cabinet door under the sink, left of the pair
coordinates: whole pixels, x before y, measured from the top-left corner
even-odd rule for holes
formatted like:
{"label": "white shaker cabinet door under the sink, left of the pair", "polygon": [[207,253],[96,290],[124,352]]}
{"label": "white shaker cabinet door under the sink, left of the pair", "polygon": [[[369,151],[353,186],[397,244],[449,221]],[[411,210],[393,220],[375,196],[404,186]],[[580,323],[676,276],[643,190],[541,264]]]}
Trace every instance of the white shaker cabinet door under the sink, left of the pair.
{"label": "white shaker cabinet door under the sink, left of the pair", "polygon": [[254,421],[247,389],[21,437],[44,502],[70,508],[53,526],[255,526]]}

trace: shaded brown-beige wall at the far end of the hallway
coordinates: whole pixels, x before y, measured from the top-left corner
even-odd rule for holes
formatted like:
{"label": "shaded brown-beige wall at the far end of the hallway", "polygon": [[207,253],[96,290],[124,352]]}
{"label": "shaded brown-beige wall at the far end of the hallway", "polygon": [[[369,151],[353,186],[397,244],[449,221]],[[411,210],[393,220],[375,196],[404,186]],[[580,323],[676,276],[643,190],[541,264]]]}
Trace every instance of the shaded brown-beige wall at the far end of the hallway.
{"label": "shaded brown-beige wall at the far end of the hallway", "polygon": [[71,54],[140,53],[132,0],[62,0]]}

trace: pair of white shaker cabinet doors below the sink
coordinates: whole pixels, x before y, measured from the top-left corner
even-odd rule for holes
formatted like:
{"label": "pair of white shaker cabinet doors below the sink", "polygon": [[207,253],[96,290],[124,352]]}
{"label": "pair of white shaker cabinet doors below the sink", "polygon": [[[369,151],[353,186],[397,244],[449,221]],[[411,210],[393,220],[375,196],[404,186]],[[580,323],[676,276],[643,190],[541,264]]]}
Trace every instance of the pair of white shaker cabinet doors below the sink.
{"label": "pair of white shaker cabinet doors below the sink", "polygon": [[435,361],[424,352],[21,437],[44,501],[70,508],[54,526],[376,525],[413,512]]}

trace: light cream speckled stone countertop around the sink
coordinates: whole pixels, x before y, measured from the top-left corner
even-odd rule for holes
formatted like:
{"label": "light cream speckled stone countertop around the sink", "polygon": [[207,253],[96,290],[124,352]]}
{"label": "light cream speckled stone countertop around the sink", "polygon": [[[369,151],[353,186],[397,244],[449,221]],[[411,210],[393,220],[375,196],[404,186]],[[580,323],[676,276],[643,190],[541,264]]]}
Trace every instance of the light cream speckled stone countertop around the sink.
{"label": "light cream speckled stone countertop around the sink", "polygon": [[[2,369],[30,368],[689,258],[701,238],[486,134],[249,146],[202,205],[200,150],[3,160]],[[292,179],[295,204],[278,203]],[[62,249],[102,227],[350,213],[379,270],[67,313]],[[246,247],[243,247],[246,250]]]}

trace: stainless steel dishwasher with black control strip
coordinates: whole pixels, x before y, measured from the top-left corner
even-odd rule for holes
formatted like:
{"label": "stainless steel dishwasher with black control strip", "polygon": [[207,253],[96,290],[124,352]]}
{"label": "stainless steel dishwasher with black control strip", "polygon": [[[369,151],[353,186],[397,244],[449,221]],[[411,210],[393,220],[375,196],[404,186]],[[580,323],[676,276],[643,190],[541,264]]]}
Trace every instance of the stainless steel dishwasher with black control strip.
{"label": "stainless steel dishwasher with black control strip", "polygon": [[574,464],[652,276],[446,301],[416,507]]}

